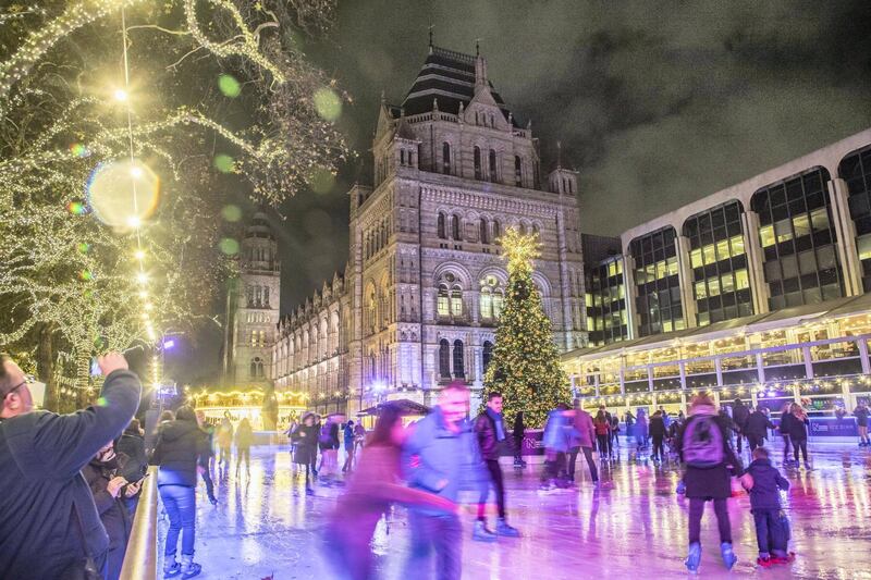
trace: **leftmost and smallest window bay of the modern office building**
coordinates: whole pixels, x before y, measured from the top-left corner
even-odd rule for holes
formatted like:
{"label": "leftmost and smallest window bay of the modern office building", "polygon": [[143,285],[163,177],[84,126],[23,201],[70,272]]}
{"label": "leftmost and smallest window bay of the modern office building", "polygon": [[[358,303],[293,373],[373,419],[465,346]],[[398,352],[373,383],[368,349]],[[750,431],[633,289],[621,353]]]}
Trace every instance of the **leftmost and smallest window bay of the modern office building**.
{"label": "leftmost and smallest window bay of the modern office building", "polygon": [[629,337],[622,258],[587,270],[587,323],[592,346]]}

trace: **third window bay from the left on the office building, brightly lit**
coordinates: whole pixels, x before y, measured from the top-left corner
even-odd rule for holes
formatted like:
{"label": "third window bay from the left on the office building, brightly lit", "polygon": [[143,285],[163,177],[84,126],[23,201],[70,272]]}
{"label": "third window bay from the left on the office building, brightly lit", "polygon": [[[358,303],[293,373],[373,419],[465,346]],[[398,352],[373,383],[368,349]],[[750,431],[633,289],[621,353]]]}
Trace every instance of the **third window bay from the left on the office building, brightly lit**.
{"label": "third window bay from the left on the office building, brightly lit", "polygon": [[684,222],[699,326],[753,313],[743,211],[739,201],[731,201]]}

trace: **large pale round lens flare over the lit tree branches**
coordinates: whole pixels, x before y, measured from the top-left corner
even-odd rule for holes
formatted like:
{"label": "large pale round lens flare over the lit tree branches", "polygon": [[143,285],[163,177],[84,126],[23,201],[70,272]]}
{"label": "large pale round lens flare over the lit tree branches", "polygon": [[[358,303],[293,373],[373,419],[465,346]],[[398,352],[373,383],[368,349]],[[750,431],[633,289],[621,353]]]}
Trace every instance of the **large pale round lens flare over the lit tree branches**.
{"label": "large pale round lens flare over the lit tree branches", "polygon": [[160,177],[138,159],[100,163],[87,185],[88,206],[106,225],[128,231],[157,209]]}

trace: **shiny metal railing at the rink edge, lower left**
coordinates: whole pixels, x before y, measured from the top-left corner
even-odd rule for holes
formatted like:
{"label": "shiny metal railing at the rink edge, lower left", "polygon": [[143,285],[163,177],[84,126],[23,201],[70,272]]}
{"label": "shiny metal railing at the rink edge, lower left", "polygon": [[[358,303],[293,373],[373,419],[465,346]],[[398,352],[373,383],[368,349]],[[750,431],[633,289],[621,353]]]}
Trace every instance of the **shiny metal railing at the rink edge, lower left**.
{"label": "shiny metal railing at the rink edge, lower left", "polygon": [[149,477],[143,482],[133,530],[124,553],[121,580],[157,578],[157,466],[149,467]]}

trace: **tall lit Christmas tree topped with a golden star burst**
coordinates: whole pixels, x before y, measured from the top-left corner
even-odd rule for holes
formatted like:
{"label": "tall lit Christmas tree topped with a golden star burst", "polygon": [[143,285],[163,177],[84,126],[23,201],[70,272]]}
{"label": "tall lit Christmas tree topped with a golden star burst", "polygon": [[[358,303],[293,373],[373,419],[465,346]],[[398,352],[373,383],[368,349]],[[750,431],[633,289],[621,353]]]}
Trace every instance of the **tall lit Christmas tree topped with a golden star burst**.
{"label": "tall lit Christmas tree topped with a golden star burst", "polygon": [[508,229],[500,242],[508,262],[508,287],[483,379],[483,402],[487,393],[498,391],[504,400],[505,424],[512,424],[522,410],[527,427],[541,427],[557,403],[569,403],[571,388],[551,321],[532,283],[532,260],[540,256],[538,234]]}

